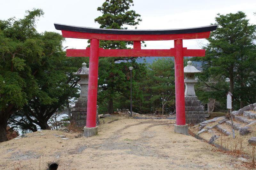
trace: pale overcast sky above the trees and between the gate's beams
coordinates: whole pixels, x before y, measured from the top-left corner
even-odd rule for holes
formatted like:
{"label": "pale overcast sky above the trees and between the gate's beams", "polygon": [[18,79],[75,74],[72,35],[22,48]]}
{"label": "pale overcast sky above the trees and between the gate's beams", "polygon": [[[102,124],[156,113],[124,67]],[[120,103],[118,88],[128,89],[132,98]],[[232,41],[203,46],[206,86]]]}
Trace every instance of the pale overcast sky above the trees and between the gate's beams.
{"label": "pale overcast sky above the trees and between the gate's beams", "polygon": [[[41,8],[44,17],[37,23],[39,32],[61,31],[55,30],[53,23],[99,27],[94,19],[101,16],[97,7],[105,0],[1,0],[0,19],[11,17],[23,18],[26,10]],[[256,24],[255,0],[133,0],[131,7],[141,15],[142,22],[138,29],[172,29],[200,27],[214,23],[217,13],[227,14],[243,11],[251,24]],[[128,29],[134,29],[129,26]],[[188,49],[200,49],[206,40],[184,40],[183,46]],[[169,49],[173,48],[173,41],[147,41],[144,49]],[[85,49],[87,40],[66,39],[63,44],[68,48]]]}

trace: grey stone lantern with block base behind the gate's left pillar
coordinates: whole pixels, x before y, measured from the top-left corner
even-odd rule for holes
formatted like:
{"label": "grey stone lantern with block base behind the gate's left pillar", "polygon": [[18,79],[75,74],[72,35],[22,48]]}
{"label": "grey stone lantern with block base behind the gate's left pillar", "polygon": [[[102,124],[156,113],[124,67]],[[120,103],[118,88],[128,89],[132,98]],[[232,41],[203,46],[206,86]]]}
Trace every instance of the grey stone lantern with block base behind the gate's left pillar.
{"label": "grey stone lantern with block base behind the gate's left pillar", "polygon": [[72,120],[75,121],[77,127],[84,127],[86,125],[87,115],[87,96],[88,96],[88,79],[89,79],[89,68],[86,67],[86,63],[82,64],[82,68],[73,75],[81,78],[78,84],[81,86],[80,97],[78,97],[75,106],[71,109]]}

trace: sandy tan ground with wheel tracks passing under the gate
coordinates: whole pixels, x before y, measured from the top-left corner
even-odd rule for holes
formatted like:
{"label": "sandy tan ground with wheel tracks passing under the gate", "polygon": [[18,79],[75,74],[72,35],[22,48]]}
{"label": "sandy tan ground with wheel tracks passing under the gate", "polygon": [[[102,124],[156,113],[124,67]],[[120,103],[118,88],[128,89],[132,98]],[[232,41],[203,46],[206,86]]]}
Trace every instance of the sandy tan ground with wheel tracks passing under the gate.
{"label": "sandy tan ground with wheel tracks passing under the gate", "polygon": [[213,152],[213,146],[175,134],[174,123],[114,116],[89,138],[55,130],[29,133],[0,143],[0,169],[47,169],[51,162],[58,169],[245,169],[240,160]]}

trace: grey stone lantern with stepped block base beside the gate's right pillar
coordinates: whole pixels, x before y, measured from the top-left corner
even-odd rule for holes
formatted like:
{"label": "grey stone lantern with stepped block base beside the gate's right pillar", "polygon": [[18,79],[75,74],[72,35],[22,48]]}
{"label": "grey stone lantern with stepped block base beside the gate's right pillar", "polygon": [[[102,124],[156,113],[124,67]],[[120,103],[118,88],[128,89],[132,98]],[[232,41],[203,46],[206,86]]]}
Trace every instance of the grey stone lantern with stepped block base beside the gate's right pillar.
{"label": "grey stone lantern with stepped block base beside the gate's right pillar", "polygon": [[204,117],[204,106],[200,104],[200,100],[197,99],[195,93],[195,73],[202,73],[192,65],[192,61],[188,61],[188,65],[184,67],[185,75],[185,112],[186,112],[186,123],[201,123],[205,121]]}

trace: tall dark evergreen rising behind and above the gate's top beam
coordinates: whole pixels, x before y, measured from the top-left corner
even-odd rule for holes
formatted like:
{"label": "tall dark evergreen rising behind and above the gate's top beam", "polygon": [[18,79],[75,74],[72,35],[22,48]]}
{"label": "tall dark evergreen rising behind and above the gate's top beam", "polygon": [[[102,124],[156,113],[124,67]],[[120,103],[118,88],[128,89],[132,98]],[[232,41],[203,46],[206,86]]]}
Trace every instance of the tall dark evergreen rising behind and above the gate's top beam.
{"label": "tall dark evergreen rising behind and above the gate's top beam", "polygon": [[[133,10],[129,10],[133,6],[132,0],[106,0],[97,10],[102,13],[102,16],[95,19],[95,22],[100,24],[100,28],[108,29],[127,29],[124,25],[135,26],[139,24],[140,15]],[[89,41],[90,42],[90,41]],[[104,49],[127,49],[127,45],[132,45],[133,42],[126,41],[100,41],[100,48]],[[113,99],[116,92],[119,94],[126,93],[127,77],[129,73],[127,68],[133,66],[136,58],[100,58],[99,60],[99,92],[104,94],[108,99],[108,113],[113,113]],[[126,61],[121,63],[121,61]],[[131,62],[131,63],[128,63]],[[124,70],[118,68],[126,65]],[[125,82],[127,81],[127,82]],[[124,85],[123,83],[126,83]],[[100,97],[100,94],[99,94]],[[101,107],[101,106],[100,106]]]}

